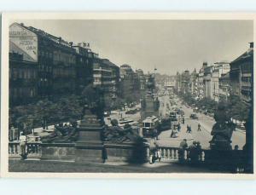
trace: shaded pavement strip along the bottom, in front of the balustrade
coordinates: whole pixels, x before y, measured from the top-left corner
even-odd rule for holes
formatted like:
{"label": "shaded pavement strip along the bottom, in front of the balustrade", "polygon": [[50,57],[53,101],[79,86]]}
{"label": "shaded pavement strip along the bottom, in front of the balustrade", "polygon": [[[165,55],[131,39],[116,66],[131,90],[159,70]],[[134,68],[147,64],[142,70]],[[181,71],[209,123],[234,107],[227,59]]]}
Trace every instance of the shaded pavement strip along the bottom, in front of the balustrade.
{"label": "shaded pavement strip along the bottom, in front of the balustrade", "polygon": [[211,169],[179,163],[67,163],[9,160],[10,172],[52,173],[212,173]]}

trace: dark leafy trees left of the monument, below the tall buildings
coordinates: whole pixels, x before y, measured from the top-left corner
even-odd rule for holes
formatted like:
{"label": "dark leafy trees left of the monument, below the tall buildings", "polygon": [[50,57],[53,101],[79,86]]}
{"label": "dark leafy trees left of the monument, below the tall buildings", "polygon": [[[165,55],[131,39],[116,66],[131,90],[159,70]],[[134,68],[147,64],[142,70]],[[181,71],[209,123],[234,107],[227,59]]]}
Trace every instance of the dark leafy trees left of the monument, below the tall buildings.
{"label": "dark leafy trees left of the monument, below the tall buildings", "polygon": [[9,109],[9,127],[15,127],[28,134],[34,128],[44,129],[52,123],[73,122],[82,117],[83,106],[77,95],[61,97],[58,101],[39,100],[24,106]]}

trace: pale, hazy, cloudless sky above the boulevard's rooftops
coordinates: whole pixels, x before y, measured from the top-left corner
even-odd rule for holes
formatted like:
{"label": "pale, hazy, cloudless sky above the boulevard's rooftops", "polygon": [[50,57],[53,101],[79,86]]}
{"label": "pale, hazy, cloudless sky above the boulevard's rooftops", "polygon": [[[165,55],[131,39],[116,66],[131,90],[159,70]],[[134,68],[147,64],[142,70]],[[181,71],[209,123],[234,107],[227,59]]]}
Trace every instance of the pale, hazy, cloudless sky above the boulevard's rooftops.
{"label": "pale, hazy, cloudless sky above the boulevard's rooftops", "polygon": [[174,75],[235,60],[253,42],[253,20],[17,20],[90,49],[118,66]]}

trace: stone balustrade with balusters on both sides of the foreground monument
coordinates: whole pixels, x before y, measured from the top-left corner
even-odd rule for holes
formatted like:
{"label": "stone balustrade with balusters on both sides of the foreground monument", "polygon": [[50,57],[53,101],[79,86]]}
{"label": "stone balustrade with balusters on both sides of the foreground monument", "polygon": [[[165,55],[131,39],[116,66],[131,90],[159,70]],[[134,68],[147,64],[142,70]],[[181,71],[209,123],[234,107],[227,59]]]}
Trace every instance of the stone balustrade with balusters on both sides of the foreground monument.
{"label": "stone balustrade with balusters on both sides of the foreground monument", "polygon": [[[178,147],[174,146],[159,146],[158,152],[160,155],[161,162],[180,162],[180,163],[191,163],[191,156],[189,155],[189,149],[180,151]],[[26,154],[27,158],[39,159],[41,157],[41,141],[30,141],[26,142]],[[150,158],[152,153],[149,147],[147,147],[147,158]],[[157,156],[158,156],[157,155]],[[201,164],[218,164],[218,153],[212,152],[211,150],[202,149],[197,152],[194,161]],[[20,141],[9,141],[9,158],[20,158]],[[243,151],[227,151],[224,154],[225,159],[221,159],[221,162],[228,164],[232,167],[236,173],[243,173],[245,171],[244,160],[245,154]],[[220,162],[220,163],[221,163]]]}

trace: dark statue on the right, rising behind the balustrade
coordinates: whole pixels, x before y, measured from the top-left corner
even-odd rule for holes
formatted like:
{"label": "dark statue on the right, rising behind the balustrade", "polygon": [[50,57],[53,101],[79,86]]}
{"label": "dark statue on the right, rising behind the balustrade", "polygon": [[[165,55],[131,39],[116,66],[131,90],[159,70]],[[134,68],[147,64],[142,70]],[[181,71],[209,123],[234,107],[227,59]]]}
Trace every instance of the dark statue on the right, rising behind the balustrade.
{"label": "dark statue on the right, rising behind the balustrade", "polygon": [[212,127],[212,141],[210,147],[212,150],[231,150],[231,137],[236,125],[230,121],[226,106],[219,104],[214,113],[216,123]]}

